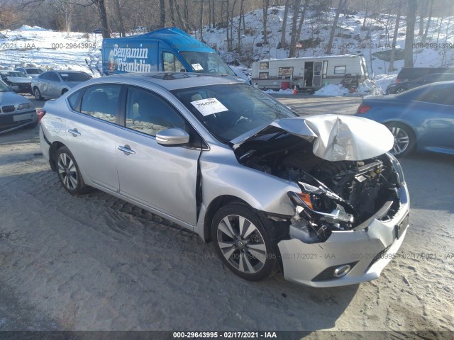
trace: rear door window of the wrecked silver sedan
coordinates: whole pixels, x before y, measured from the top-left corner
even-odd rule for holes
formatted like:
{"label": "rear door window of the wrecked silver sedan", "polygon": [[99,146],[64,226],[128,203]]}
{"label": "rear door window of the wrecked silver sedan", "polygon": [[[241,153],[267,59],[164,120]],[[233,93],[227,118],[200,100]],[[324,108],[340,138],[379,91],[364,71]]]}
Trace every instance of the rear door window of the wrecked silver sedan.
{"label": "rear door window of the wrecked silver sedan", "polygon": [[121,85],[116,84],[89,87],[82,96],[80,112],[110,123],[116,123],[120,91]]}

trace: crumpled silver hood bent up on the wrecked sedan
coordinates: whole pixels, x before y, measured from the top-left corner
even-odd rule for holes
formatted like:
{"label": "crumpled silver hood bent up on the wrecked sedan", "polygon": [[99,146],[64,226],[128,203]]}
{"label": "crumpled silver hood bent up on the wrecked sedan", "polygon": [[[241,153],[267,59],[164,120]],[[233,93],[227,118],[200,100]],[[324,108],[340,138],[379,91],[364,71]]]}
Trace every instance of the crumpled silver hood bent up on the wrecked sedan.
{"label": "crumpled silver hood bent up on the wrecked sedan", "polygon": [[265,128],[251,131],[248,136],[232,140],[233,149],[254,136],[264,135],[270,126],[314,140],[314,154],[327,161],[360,161],[377,157],[394,145],[394,137],[388,128],[373,120],[352,115],[315,115],[275,120]]}

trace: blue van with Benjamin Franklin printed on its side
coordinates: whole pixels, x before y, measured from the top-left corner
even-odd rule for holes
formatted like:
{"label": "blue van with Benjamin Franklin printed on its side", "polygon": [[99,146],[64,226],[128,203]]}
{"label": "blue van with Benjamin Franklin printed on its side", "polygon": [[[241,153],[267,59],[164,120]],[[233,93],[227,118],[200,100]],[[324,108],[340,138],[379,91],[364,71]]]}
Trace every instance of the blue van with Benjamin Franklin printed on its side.
{"label": "blue van with Benjamin Franklin printed on its side", "polygon": [[105,75],[165,71],[236,77],[211,47],[175,27],[104,39],[101,52]]}

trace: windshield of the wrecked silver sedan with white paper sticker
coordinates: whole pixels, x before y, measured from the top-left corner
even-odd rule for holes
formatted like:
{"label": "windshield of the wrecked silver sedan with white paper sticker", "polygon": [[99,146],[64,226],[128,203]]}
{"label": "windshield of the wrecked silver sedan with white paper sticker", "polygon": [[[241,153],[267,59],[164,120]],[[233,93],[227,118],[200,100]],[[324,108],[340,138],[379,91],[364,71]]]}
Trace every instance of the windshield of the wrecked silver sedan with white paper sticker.
{"label": "windshield of the wrecked silver sedan with white paper sticker", "polygon": [[296,116],[247,84],[200,86],[174,90],[172,94],[223,143],[274,120]]}

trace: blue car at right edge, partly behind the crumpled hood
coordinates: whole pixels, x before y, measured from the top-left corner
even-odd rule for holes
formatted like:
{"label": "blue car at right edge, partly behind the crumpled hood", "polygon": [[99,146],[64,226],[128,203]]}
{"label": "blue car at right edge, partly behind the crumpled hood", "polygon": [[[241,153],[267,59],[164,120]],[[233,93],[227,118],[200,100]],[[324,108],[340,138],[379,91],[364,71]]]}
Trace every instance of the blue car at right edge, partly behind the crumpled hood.
{"label": "blue car at right edge, partly behind the crumpled hood", "polygon": [[417,87],[402,94],[368,96],[358,117],[386,125],[394,135],[391,153],[404,157],[414,149],[454,154],[454,81]]}

